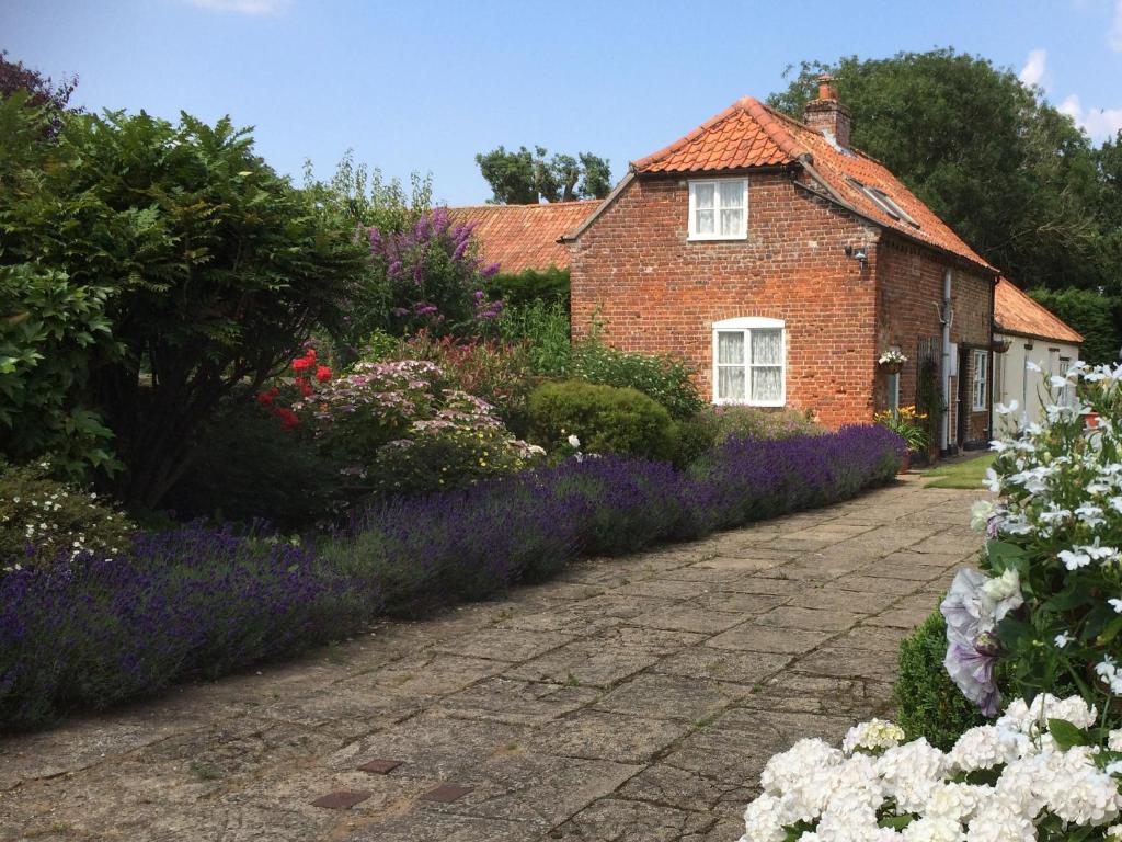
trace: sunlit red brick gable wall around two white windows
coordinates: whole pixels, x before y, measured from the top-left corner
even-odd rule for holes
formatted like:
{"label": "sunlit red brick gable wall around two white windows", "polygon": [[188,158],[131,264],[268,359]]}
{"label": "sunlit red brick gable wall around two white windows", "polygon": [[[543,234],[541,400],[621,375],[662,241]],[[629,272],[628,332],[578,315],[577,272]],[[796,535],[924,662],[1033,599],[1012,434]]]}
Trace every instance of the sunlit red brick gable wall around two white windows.
{"label": "sunlit red brick gable wall around two white windows", "polygon": [[874,230],[810,196],[785,173],[748,180],[748,239],[687,240],[684,180],[636,180],[580,237],[572,254],[572,323],[594,314],[625,350],[671,353],[698,369],[711,396],[712,322],[783,319],[787,403],[836,427],[867,421],[875,377]]}

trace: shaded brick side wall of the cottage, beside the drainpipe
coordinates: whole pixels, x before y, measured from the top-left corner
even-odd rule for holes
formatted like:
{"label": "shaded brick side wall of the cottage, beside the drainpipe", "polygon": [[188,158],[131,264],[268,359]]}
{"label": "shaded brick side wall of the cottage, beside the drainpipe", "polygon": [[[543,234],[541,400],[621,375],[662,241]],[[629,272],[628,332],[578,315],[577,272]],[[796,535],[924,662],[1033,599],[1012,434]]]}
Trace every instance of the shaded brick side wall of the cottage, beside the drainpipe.
{"label": "shaded brick side wall of the cottage, beside the drainpipe", "polygon": [[[959,348],[987,348],[990,326],[993,321],[993,282],[977,271],[965,268],[960,262],[942,257],[936,251],[908,242],[892,234],[882,236],[877,244],[877,347],[899,345],[909,363],[900,375],[900,402],[916,402],[916,359],[920,336],[941,335],[936,306],[942,300],[942,277],[950,266],[951,310],[950,341]],[[965,367],[959,377],[973,383],[974,373],[967,354]],[[992,369],[992,355],[991,365]],[[991,370],[992,376],[992,370]],[[888,403],[888,381],[877,377],[876,403]],[[969,390],[967,390],[969,394]],[[951,439],[957,431],[956,399],[957,379],[951,381],[950,412]],[[966,404],[962,411],[969,413],[965,442],[980,443],[988,438],[990,413],[974,412]]]}

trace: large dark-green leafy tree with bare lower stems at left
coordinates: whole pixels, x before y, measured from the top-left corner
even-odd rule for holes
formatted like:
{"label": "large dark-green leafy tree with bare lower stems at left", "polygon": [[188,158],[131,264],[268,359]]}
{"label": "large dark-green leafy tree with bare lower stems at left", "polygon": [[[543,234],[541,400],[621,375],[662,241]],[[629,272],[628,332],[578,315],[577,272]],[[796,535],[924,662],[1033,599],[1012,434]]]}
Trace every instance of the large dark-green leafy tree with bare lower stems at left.
{"label": "large dark-green leafy tree with bare lower stems at left", "polygon": [[[0,108],[0,132],[16,123]],[[19,155],[3,154],[6,173]],[[339,323],[367,248],[229,119],[68,116],[42,157],[0,177],[0,263],[62,273],[88,299],[108,291],[116,344],[85,347],[89,379],[66,403],[104,413],[127,466],[118,491],[151,507],[223,395]]]}

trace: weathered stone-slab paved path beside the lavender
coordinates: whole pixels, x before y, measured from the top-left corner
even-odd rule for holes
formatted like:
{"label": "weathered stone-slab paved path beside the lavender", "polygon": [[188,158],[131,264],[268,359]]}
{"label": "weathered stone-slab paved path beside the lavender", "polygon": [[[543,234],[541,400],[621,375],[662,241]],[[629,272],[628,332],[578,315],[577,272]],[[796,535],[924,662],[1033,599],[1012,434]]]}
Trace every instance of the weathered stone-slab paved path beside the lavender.
{"label": "weathered stone-slab paved path beside the lavender", "polygon": [[0,740],[0,839],[733,842],[773,752],[888,711],[975,496],[909,478]]}

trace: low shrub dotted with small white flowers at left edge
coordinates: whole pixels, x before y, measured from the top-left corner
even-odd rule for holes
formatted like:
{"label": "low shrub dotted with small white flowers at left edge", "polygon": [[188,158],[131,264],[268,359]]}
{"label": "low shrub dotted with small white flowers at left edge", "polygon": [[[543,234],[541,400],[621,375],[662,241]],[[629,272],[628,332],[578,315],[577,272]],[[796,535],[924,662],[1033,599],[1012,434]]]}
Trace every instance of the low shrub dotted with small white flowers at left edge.
{"label": "low shrub dotted with small white flowers at left edge", "polygon": [[0,570],[127,555],[136,525],[108,498],[49,478],[49,463],[0,465]]}

